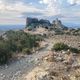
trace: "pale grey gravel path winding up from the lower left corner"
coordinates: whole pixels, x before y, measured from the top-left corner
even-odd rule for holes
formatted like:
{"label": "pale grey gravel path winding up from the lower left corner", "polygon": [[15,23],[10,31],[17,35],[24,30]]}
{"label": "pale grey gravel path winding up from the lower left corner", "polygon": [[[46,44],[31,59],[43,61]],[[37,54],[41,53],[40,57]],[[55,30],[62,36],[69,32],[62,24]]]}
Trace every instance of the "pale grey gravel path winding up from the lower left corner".
{"label": "pale grey gravel path winding up from the lower left corner", "polygon": [[42,56],[45,56],[49,50],[51,49],[51,43],[49,40],[46,40],[47,46],[45,46],[42,50],[34,53],[32,55],[28,55],[25,58],[16,61],[13,64],[10,64],[5,67],[0,68],[0,80],[18,80],[22,74],[28,73],[34,67],[36,67]]}

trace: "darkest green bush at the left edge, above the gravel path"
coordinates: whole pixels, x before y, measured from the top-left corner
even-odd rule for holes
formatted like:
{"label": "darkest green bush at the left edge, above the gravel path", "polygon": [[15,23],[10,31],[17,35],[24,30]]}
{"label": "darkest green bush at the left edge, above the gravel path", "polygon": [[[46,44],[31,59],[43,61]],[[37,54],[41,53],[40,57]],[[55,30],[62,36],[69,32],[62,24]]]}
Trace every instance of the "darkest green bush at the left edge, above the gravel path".
{"label": "darkest green bush at the left edge, above the gravel path", "polygon": [[0,64],[5,64],[11,58],[10,48],[7,43],[0,42]]}

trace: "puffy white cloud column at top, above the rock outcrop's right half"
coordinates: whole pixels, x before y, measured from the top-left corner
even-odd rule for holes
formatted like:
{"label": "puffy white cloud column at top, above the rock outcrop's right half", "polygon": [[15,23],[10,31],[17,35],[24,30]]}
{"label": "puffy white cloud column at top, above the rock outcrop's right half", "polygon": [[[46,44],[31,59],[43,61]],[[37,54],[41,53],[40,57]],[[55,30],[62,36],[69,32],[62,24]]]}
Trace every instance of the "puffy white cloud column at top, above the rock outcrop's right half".
{"label": "puffy white cloud column at top, above the rock outcrop's right half", "polygon": [[60,13],[59,2],[57,0],[40,0],[39,3],[46,4],[45,16],[54,16]]}

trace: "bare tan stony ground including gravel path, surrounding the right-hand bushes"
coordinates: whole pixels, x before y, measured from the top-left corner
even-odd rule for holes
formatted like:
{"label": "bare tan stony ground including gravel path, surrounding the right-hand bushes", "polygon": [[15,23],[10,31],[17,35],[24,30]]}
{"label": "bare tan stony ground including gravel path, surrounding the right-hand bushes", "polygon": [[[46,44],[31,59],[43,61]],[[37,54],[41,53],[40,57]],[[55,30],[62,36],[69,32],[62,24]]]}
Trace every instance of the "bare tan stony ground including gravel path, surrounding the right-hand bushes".
{"label": "bare tan stony ground including gravel path, surrounding the right-hand bushes", "polygon": [[[52,62],[47,61],[53,44],[57,42],[64,42],[73,47],[80,48],[80,44],[78,44],[80,42],[79,36],[55,35],[52,38],[45,39],[45,46],[43,49],[32,55],[26,55],[24,58],[10,65],[1,66],[0,80],[69,80],[69,78],[70,80],[79,80],[79,78],[73,79],[75,76],[79,77],[79,55],[65,55],[64,52],[60,52],[56,53],[55,58],[53,58],[55,60]],[[48,57],[45,58],[47,55]],[[64,61],[61,61],[62,58],[64,58]],[[73,61],[73,63],[67,65],[66,61],[69,62],[70,60]],[[30,79],[30,75],[34,72],[37,74],[33,74],[32,77],[37,75],[37,79]],[[38,77],[40,79],[38,79]],[[65,79],[65,77],[69,78]]]}

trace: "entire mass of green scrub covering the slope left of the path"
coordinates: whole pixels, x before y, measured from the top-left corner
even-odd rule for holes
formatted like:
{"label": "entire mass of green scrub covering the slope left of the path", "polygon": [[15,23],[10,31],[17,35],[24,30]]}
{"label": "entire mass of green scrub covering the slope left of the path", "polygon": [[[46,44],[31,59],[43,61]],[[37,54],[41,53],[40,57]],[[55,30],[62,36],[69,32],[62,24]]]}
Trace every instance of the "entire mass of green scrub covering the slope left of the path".
{"label": "entire mass of green scrub covering the slope left of the path", "polygon": [[30,54],[33,47],[39,47],[39,41],[42,37],[39,35],[30,35],[23,31],[7,31],[3,37],[0,37],[0,64],[6,63],[13,53]]}

